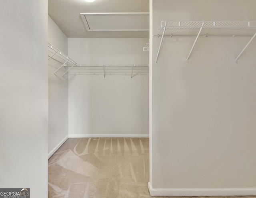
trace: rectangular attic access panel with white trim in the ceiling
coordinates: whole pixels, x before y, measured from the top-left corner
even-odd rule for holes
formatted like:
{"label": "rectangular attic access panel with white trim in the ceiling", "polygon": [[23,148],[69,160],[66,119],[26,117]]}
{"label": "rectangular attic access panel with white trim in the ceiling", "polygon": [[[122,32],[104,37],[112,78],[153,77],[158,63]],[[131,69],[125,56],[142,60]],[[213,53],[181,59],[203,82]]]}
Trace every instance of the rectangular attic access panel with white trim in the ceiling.
{"label": "rectangular attic access panel with white trim in the ceiling", "polygon": [[149,12],[80,13],[87,31],[149,31]]}

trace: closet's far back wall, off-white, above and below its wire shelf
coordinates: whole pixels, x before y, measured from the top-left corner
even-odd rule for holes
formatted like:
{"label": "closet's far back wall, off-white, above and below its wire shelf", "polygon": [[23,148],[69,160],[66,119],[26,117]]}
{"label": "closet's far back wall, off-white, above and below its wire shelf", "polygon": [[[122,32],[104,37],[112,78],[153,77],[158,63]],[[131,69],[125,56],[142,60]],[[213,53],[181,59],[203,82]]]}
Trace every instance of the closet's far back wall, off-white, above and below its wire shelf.
{"label": "closet's far back wall, off-white, above and below its wire shelf", "polygon": [[[68,39],[77,63],[148,64],[148,39]],[[71,70],[70,70],[71,71]],[[72,70],[69,73],[69,134],[148,135],[148,71]],[[136,71],[134,71],[136,74]]]}

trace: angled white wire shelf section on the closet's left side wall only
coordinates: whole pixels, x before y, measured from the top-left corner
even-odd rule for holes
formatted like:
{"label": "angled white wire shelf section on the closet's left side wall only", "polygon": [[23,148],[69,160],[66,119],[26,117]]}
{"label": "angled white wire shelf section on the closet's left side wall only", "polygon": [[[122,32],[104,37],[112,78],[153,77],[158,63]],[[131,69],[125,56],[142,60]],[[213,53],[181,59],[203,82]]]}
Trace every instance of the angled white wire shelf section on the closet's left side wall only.
{"label": "angled white wire shelf section on the closet's left side wall only", "polygon": [[[48,43],[48,51],[50,52],[50,55],[48,55],[48,60],[54,59],[55,61],[62,63],[62,65],[54,72],[54,74],[66,64],[72,64],[72,67],[76,65],[75,61],[70,59],[70,57],[65,55],[62,51],[60,51],[50,43]],[[72,67],[70,67],[64,74],[66,74]],[[64,74],[62,76],[64,76]]]}

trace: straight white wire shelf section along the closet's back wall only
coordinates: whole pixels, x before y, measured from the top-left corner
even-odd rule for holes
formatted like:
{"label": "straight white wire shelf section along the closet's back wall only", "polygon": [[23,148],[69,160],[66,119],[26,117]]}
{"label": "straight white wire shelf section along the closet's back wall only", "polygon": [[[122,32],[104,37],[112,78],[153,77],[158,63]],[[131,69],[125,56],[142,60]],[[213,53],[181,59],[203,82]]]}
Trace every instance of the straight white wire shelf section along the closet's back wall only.
{"label": "straight white wire shelf section along the closet's back wall only", "polygon": [[104,78],[105,78],[105,73],[106,70],[113,70],[113,69],[127,69],[131,70],[131,78],[133,77],[133,71],[134,70],[144,70],[144,69],[149,69],[148,64],[76,64],[75,67],[73,67],[73,64],[66,64],[65,67],[68,67],[70,70],[71,68],[73,69],[100,69],[104,73]]}

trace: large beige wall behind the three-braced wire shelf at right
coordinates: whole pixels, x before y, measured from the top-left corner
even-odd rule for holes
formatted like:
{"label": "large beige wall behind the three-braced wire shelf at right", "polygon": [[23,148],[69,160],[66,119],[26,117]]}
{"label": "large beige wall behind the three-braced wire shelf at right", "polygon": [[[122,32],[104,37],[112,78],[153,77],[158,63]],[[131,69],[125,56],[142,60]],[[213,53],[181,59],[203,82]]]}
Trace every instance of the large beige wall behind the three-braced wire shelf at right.
{"label": "large beige wall behind the three-braced wire shelf at right", "polygon": [[[255,7],[252,0],[155,0],[153,30],[161,20],[255,21]],[[200,37],[186,63],[194,39],[165,37],[156,65],[160,38],[153,38],[150,184],[158,191],[153,194],[253,188],[255,195],[256,41],[235,64],[250,37]],[[215,190],[185,192],[190,188]]]}

